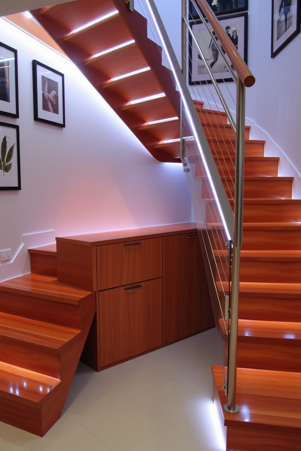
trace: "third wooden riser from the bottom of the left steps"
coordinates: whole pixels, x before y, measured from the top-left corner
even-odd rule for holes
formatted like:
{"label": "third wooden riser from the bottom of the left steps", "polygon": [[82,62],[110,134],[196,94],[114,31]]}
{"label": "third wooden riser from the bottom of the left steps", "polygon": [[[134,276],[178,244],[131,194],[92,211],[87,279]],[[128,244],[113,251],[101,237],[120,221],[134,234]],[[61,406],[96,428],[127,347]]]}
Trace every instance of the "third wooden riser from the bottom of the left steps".
{"label": "third wooden riser from the bottom of the left steps", "polygon": [[0,312],[80,329],[79,306],[36,296],[0,291]]}

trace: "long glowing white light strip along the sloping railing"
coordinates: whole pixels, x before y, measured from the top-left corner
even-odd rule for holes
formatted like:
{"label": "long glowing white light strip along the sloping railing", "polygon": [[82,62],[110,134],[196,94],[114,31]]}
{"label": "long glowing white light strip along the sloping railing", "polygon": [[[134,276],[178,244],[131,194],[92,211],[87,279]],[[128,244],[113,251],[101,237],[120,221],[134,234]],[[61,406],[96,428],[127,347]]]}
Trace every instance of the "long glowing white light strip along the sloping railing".
{"label": "long glowing white light strip along the sloping railing", "polygon": [[189,110],[189,108],[188,108],[188,105],[187,105],[187,102],[186,102],[186,99],[185,99],[185,96],[184,96],[184,93],[183,93],[183,90],[182,90],[182,87],[181,87],[181,83],[179,82],[179,79],[178,79],[178,76],[177,76],[177,73],[176,73],[176,69],[174,68],[174,65],[173,65],[173,63],[172,63],[171,57],[170,57],[169,52],[168,52],[168,50],[167,50],[167,46],[165,45],[165,41],[164,41],[164,39],[163,39],[161,30],[160,30],[159,25],[158,25],[158,23],[157,23],[157,19],[155,18],[154,14],[153,14],[153,10],[152,10],[152,8],[151,8],[151,6],[150,6],[150,4],[149,4],[149,1],[148,1],[148,0],[145,0],[145,2],[146,2],[146,4],[147,4],[147,6],[148,6],[149,13],[150,13],[150,15],[151,15],[152,18],[153,18],[153,22],[154,22],[155,27],[156,27],[156,29],[157,29],[157,33],[158,33],[158,35],[159,35],[159,37],[160,37],[160,39],[161,39],[161,44],[162,44],[162,47],[163,47],[163,49],[164,49],[164,51],[165,51],[165,53],[166,53],[168,62],[169,62],[169,64],[170,64],[170,67],[171,67],[171,70],[172,70],[172,73],[174,74],[174,77],[175,77],[175,79],[176,79],[176,85],[177,85],[178,90],[179,90],[179,92],[180,92],[180,94],[181,94],[182,101],[183,101],[183,104],[184,104],[184,106],[185,106],[185,111],[186,111],[186,114],[187,114],[187,117],[188,117],[188,120],[189,120],[189,123],[190,123],[190,127],[191,127],[191,129],[192,129],[193,134],[194,134],[195,141],[196,141],[196,143],[197,143],[197,145],[198,145],[198,148],[199,148],[199,153],[200,153],[200,155],[201,155],[201,157],[202,157],[202,160],[203,160],[203,164],[204,164],[204,166],[205,166],[205,170],[206,170],[207,175],[208,175],[208,179],[209,179],[209,182],[210,182],[210,185],[211,185],[211,189],[212,189],[212,191],[213,191],[213,195],[214,195],[215,201],[216,201],[217,206],[218,206],[218,211],[219,211],[219,213],[220,213],[220,215],[221,215],[223,226],[225,227],[225,231],[226,231],[226,234],[227,234],[227,238],[228,238],[228,240],[230,241],[230,240],[231,240],[231,235],[230,235],[229,230],[228,230],[228,227],[227,227],[227,222],[226,222],[225,216],[224,216],[224,214],[223,214],[223,212],[222,212],[222,207],[221,207],[221,204],[220,204],[219,199],[218,199],[218,194],[217,194],[217,192],[216,192],[216,189],[215,189],[215,186],[214,186],[214,183],[213,183],[213,179],[212,179],[212,177],[211,177],[211,174],[210,174],[210,171],[209,171],[209,168],[208,168],[208,165],[207,165],[205,156],[204,156],[204,152],[203,152],[203,149],[202,149],[202,145],[201,145],[201,143],[200,143],[200,141],[199,141],[199,136],[198,136],[198,133],[197,133],[196,128],[195,128],[195,126],[194,126],[194,123],[193,123],[193,120],[192,120],[192,116],[191,116],[191,114],[190,114],[190,110]]}

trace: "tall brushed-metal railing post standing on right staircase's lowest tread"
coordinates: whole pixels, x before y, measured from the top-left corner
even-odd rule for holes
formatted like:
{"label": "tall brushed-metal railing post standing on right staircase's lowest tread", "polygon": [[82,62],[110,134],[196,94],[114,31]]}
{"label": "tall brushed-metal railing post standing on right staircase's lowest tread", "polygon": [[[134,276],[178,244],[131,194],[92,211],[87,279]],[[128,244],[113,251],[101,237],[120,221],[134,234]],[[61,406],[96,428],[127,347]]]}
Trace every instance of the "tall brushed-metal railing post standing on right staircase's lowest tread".
{"label": "tall brushed-metal railing post standing on right staircase's lowest tread", "polygon": [[228,353],[228,404],[227,412],[236,413],[236,373],[237,373],[237,333],[239,276],[242,246],[243,206],[244,206],[244,164],[245,164],[245,86],[237,77],[236,97],[236,157],[235,157],[235,196],[234,196],[234,237],[231,284],[231,316]]}

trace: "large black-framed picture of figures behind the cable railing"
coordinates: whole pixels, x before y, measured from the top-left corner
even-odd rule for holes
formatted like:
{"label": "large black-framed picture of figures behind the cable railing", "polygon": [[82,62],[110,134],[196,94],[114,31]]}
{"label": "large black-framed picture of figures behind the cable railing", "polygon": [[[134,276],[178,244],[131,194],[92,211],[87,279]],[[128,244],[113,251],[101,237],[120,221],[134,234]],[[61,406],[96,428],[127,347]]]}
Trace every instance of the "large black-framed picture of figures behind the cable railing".
{"label": "large black-framed picture of figures behind the cable railing", "polygon": [[[248,13],[231,14],[218,17],[219,23],[224,28],[233,45],[236,46],[238,53],[245,63],[248,63]],[[229,76],[222,56],[217,47],[223,51],[221,43],[217,40],[212,41],[202,21],[190,23],[194,37],[196,38],[200,49],[203,51],[207,64],[211,67],[213,75],[217,82],[233,81]],[[211,29],[211,31],[213,31]],[[199,51],[192,37],[189,37],[189,84],[212,83],[204,61],[199,55]]]}

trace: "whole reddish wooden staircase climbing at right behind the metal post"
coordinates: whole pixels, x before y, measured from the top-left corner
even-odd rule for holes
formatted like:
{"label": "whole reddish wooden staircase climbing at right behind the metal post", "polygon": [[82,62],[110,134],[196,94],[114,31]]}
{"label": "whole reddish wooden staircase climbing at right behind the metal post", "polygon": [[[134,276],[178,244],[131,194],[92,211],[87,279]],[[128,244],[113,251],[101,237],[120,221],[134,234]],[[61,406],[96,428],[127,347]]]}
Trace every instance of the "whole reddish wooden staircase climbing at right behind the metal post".
{"label": "whole reddish wooden staircase climbing at right behind the metal post", "polygon": [[[202,104],[194,103],[207,127]],[[221,129],[216,133],[211,127],[210,133],[208,127],[208,141],[233,204],[234,191],[225,175],[234,175],[232,132],[222,126],[224,115],[214,111],[211,115],[216,115],[212,120]],[[198,164],[195,178],[205,178]],[[227,398],[222,368],[212,369],[213,398],[220,421],[227,426],[225,442],[231,451],[300,449],[301,200],[292,199],[292,181],[278,177],[278,158],[264,157],[264,142],[250,141],[246,128],[237,344],[239,413],[223,410]],[[206,188],[202,197],[210,198]]]}

